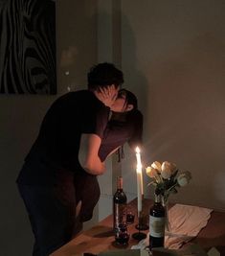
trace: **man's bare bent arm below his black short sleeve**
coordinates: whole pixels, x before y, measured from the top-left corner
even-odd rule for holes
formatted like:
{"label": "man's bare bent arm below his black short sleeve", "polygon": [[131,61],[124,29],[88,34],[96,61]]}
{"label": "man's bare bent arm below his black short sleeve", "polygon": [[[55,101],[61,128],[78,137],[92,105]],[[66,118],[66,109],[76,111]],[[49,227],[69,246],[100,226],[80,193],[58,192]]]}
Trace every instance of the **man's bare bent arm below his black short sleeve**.
{"label": "man's bare bent arm below his black short sleeve", "polygon": [[96,134],[82,134],[79,145],[79,163],[90,175],[102,175],[105,172],[104,163],[98,155],[101,138]]}

